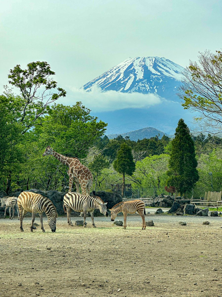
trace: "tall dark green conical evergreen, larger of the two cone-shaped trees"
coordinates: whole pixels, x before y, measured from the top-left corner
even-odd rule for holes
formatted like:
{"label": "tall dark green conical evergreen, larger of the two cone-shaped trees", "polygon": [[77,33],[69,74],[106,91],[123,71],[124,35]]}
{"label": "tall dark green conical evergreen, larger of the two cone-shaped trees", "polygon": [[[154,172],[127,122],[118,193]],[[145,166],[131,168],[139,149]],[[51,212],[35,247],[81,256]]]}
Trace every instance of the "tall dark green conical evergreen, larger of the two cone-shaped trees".
{"label": "tall dark green conical evergreen, larger of the two cone-shaped trees", "polygon": [[175,138],[172,140],[167,186],[173,186],[181,195],[189,192],[198,181],[194,141],[183,119],[178,121]]}

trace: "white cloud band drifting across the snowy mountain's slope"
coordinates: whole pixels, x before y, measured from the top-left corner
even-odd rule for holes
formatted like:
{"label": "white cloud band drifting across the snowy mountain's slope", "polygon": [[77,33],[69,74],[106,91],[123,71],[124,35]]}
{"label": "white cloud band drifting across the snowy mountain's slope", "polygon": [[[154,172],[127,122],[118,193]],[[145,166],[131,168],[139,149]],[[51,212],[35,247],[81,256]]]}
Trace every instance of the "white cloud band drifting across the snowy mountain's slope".
{"label": "white cloud band drifting across the snowy mountain's slope", "polygon": [[94,112],[149,108],[162,102],[162,98],[156,94],[120,93],[112,90],[101,92],[98,86],[93,86],[88,92],[84,89],[70,89],[71,93],[62,100],[62,103],[73,105],[76,101],[81,101]]}

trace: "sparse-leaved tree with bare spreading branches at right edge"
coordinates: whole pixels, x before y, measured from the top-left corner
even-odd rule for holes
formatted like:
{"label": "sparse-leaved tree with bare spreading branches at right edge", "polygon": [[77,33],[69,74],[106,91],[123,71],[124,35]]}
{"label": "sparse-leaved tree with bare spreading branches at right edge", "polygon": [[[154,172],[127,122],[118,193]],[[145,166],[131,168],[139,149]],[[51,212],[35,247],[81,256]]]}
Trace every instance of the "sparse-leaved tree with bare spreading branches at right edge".
{"label": "sparse-leaved tree with bare spreading branches at right edge", "polygon": [[196,120],[204,132],[222,130],[222,52],[200,53],[199,63],[191,62],[184,71],[179,97],[184,109],[198,111]]}

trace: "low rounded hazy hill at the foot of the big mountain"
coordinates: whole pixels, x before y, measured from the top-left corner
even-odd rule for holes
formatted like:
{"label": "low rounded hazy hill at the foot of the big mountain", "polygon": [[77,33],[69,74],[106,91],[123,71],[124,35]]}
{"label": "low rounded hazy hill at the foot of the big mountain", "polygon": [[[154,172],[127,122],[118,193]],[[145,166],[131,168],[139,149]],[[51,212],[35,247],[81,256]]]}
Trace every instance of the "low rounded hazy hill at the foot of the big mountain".
{"label": "low rounded hazy hill at the foot of the big mountain", "polygon": [[162,136],[165,134],[168,137],[173,137],[173,135],[168,135],[158,129],[155,129],[153,127],[146,127],[146,128],[142,128],[139,130],[135,130],[135,131],[130,131],[127,133],[118,133],[118,134],[107,134],[106,136],[109,139],[113,139],[113,138],[117,138],[118,135],[122,135],[123,138],[125,136],[129,136],[130,140],[134,140],[137,141],[138,139],[143,139],[143,138],[151,138],[151,137],[155,137],[156,135],[160,134],[160,138],[162,138]]}

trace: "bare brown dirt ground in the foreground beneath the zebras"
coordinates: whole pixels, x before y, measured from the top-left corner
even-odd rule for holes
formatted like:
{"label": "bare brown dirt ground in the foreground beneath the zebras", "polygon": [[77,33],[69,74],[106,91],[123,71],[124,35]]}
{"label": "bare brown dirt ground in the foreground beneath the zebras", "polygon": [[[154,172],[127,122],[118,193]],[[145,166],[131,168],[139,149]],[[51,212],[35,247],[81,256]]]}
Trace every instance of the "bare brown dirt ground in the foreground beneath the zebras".
{"label": "bare brown dirt ground in the foreground beneath the zebras", "polygon": [[155,218],[142,231],[140,217],[128,217],[126,230],[110,217],[95,218],[97,228],[59,217],[55,233],[46,218],[46,233],[30,233],[30,218],[23,233],[17,219],[0,219],[0,296],[222,297],[222,218],[208,226]]}

